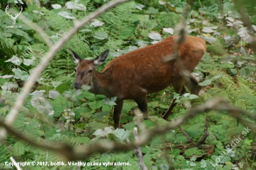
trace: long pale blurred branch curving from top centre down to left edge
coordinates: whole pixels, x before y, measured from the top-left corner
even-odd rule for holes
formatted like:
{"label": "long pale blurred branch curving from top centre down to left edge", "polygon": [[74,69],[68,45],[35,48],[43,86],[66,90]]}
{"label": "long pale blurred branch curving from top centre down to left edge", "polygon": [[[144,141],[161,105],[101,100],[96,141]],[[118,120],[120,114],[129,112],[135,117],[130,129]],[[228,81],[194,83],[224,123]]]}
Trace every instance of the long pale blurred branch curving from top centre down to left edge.
{"label": "long pale blurred branch curving from top centre down to left edge", "polygon": [[[98,8],[94,13],[91,13],[84,20],[81,20],[81,21],[75,23],[73,28],[69,32],[63,34],[62,38],[49,49],[47,54],[41,59],[40,64],[34,69],[34,72],[32,72],[32,74],[29,76],[29,78],[28,78],[26,84],[24,85],[24,88],[21,90],[20,95],[18,96],[13,108],[11,109],[11,111],[9,112],[9,114],[6,117],[7,124],[9,124],[9,125],[13,124],[20,109],[22,108],[22,106],[24,104],[25,99],[27,98],[27,96],[29,94],[30,89],[34,85],[34,82],[37,80],[37,78],[39,77],[39,75],[43,71],[43,69],[48,65],[49,61],[53,58],[55,53],[58,52],[58,50],[60,50],[61,46],[63,46],[64,43],[66,43],[67,40],[70,39],[70,37],[74,33],[76,33],[82,26],[87,24],[90,20],[100,16],[102,13],[104,13],[108,9],[115,7],[116,5],[118,5],[122,2],[126,2],[126,1],[128,1],[128,0],[114,0],[114,1],[108,2],[107,4],[104,4],[103,6]],[[0,141],[2,141],[5,137],[6,137],[6,131],[4,129],[1,129],[0,130]]]}

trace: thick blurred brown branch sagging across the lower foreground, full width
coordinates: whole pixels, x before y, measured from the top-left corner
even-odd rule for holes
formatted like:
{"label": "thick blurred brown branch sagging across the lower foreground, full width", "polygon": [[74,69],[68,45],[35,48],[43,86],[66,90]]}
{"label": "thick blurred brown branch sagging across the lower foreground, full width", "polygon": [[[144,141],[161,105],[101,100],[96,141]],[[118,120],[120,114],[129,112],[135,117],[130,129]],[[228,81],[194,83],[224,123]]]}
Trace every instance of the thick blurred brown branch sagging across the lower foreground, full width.
{"label": "thick blurred brown branch sagging across the lower foreground, full width", "polygon": [[[148,141],[155,134],[161,134],[168,130],[171,130],[176,126],[182,124],[185,120],[192,118],[197,114],[201,114],[201,113],[211,111],[211,110],[216,110],[216,109],[229,111],[231,116],[238,118],[242,124],[244,124],[245,126],[248,126],[251,129],[251,131],[256,134],[255,126],[248,121],[244,121],[243,118],[241,118],[240,116],[241,113],[246,115],[249,115],[249,113],[247,111],[243,111],[229,105],[227,102],[225,102],[221,98],[209,100],[204,105],[200,105],[194,109],[191,109],[188,112],[188,114],[186,114],[184,117],[175,119],[175,121],[173,121],[171,124],[168,124],[167,126],[158,126],[158,127],[155,127],[154,129],[147,130],[146,133],[140,134],[140,138],[138,140],[135,140],[133,143],[128,143],[128,144],[120,144],[116,142],[108,142],[108,143],[100,142],[97,144],[84,145],[77,149],[74,149],[67,144],[62,144],[58,142],[46,143],[45,140],[36,142],[30,137],[27,137],[26,135],[24,135],[22,132],[18,130],[14,130],[9,125],[5,124],[2,120],[0,120],[0,125],[3,126],[9,133],[15,135],[19,139],[26,141],[36,147],[40,147],[43,149],[47,149],[47,150],[51,150],[56,153],[59,153],[63,157],[66,157],[68,160],[82,160],[82,159],[87,159],[88,157],[96,153],[135,149],[138,146],[141,146],[142,144],[147,144]],[[253,119],[255,120],[255,118]]]}

